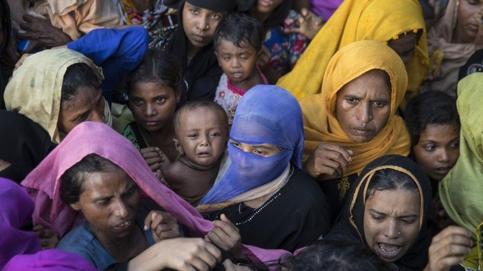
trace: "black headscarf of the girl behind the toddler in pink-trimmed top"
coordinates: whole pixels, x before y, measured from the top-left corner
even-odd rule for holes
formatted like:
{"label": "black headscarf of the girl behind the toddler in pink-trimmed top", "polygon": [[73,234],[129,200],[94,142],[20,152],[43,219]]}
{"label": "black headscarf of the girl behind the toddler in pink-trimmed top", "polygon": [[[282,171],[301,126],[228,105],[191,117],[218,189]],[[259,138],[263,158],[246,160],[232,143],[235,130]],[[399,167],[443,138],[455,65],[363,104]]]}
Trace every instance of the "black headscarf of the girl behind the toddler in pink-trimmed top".
{"label": "black headscarf of the girl behind the toddler in pink-trimmed top", "polygon": [[[237,0],[188,0],[189,3],[216,12],[238,10]],[[171,5],[175,3],[170,3]],[[203,47],[187,64],[188,38],[183,28],[183,7],[185,0],[178,2],[178,28],[167,50],[177,56],[182,63],[185,80],[188,84],[187,99],[210,99],[215,96],[216,87],[223,71],[218,65],[213,43]]]}

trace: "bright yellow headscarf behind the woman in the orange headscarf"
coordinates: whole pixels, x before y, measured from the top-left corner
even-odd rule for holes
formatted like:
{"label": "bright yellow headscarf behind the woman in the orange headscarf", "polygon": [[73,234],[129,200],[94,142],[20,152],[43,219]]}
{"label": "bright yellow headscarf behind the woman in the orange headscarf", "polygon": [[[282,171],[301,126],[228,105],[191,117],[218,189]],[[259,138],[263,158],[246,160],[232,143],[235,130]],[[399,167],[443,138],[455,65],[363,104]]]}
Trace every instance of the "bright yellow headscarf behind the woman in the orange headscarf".
{"label": "bright yellow headscarf behind the woman in the orange headscarf", "polygon": [[[341,47],[358,40],[387,43],[400,34],[418,30],[423,34],[406,67],[408,96],[415,96],[429,70],[425,22],[418,0],[344,0],[310,42],[293,70],[280,78],[277,85],[300,101],[322,91],[327,65]],[[363,57],[356,56],[352,61],[361,61]]]}

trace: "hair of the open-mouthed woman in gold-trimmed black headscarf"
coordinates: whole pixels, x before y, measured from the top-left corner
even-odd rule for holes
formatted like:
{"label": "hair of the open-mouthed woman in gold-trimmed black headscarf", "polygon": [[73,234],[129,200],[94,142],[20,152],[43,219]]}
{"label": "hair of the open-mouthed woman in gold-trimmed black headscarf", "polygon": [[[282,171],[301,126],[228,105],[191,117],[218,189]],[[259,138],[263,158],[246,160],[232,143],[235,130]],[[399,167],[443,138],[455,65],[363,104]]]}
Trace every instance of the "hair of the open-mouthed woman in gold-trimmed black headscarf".
{"label": "hair of the open-mouthed woman in gold-trimmed black headscarf", "polygon": [[365,198],[368,199],[376,191],[398,190],[417,191],[414,180],[404,172],[386,168],[378,170],[369,183]]}

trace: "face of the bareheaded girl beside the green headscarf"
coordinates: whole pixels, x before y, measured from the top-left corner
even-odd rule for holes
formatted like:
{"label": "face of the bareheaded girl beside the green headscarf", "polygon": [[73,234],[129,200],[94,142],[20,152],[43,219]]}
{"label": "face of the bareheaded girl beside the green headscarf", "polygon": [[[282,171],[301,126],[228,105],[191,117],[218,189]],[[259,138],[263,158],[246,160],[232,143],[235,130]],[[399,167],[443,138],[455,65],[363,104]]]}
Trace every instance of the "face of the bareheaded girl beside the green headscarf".
{"label": "face of the bareheaded girl beside the green headscarf", "polygon": [[428,175],[440,181],[460,156],[460,131],[454,124],[430,124],[413,147],[416,162]]}

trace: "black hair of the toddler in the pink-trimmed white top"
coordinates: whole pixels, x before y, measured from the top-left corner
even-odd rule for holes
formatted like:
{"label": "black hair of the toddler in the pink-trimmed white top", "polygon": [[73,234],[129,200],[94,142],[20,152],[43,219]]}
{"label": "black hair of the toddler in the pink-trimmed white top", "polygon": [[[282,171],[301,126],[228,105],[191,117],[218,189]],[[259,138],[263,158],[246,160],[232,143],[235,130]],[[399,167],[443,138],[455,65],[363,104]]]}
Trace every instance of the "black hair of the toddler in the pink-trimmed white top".
{"label": "black hair of the toddler in the pink-trimmed white top", "polygon": [[263,28],[255,18],[235,12],[220,21],[215,30],[213,44],[216,50],[222,40],[228,40],[237,47],[249,45],[258,52],[262,49],[263,39]]}

